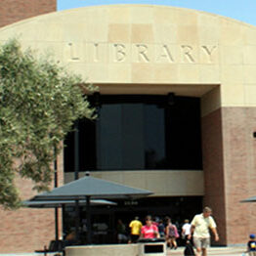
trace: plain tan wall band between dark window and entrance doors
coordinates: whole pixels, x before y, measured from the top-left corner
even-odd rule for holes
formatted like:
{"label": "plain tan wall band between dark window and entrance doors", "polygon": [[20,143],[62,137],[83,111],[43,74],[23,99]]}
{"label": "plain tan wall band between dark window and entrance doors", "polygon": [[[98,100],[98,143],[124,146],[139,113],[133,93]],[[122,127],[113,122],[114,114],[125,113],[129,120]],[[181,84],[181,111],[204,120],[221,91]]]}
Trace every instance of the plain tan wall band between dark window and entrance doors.
{"label": "plain tan wall band between dark window and entrance doors", "polygon": [[[85,173],[80,172],[79,177]],[[203,172],[186,170],[157,171],[104,171],[92,172],[92,176],[123,185],[153,192],[153,196],[203,195]],[[65,173],[64,183],[73,181],[73,173]]]}

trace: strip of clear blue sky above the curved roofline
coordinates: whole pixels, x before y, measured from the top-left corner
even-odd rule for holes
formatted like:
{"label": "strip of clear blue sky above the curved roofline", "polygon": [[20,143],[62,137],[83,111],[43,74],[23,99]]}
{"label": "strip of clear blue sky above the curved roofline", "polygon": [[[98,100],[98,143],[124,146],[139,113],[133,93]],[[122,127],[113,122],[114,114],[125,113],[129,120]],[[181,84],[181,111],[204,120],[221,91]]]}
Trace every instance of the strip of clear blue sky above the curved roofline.
{"label": "strip of clear blue sky above the curved roofline", "polygon": [[153,4],[185,7],[256,25],[256,0],[58,0],[58,10],[92,5]]}

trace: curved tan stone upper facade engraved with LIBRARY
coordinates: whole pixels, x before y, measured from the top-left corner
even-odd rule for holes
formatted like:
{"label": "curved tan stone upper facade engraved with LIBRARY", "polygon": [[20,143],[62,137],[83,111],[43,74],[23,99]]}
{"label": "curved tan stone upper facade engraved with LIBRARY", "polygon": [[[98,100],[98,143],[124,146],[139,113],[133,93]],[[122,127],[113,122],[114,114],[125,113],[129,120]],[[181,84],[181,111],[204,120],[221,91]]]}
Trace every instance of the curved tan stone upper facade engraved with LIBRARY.
{"label": "curved tan stone upper facade engraved with LIBRARY", "polygon": [[[172,91],[202,97],[203,113],[256,105],[256,28],[225,17],[165,6],[100,6],[0,30],[2,41],[14,36],[24,47],[54,52],[88,81],[104,83],[103,93],[116,92],[117,84],[126,93]],[[140,91],[125,84],[143,85]]]}

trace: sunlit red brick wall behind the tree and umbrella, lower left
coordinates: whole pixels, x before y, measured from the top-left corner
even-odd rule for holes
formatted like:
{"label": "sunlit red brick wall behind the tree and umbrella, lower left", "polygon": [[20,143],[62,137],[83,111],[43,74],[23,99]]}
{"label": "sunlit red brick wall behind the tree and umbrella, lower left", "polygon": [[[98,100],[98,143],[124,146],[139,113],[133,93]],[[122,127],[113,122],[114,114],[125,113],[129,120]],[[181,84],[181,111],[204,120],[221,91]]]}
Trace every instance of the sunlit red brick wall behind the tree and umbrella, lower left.
{"label": "sunlit red brick wall behind the tree and umbrella, lower left", "polygon": [[[59,187],[64,183],[63,153],[58,157]],[[37,194],[32,190],[30,180],[16,179],[21,199],[29,199]],[[59,235],[62,236],[62,211],[59,210]],[[55,239],[54,209],[21,208],[4,210],[0,206],[0,254],[34,252],[49,245]]]}

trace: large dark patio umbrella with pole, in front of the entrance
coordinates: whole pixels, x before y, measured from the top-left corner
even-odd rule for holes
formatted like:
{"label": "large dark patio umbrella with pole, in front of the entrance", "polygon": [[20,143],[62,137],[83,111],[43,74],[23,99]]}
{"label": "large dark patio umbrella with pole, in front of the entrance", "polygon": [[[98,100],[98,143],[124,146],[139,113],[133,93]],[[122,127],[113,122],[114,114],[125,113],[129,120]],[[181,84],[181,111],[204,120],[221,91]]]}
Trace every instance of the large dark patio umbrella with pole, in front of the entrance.
{"label": "large dark patio umbrella with pole, in front of the entrance", "polygon": [[[91,243],[91,199],[133,199],[152,194],[147,190],[136,189],[121,184],[109,182],[102,179],[86,176],[67,183],[62,187],[53,189],[51,192],[43,192],[35,195],[31,200],[86,200],[86,219],[87,219],[87,243]],[[77,235],[77,234],[76,234]]]}

